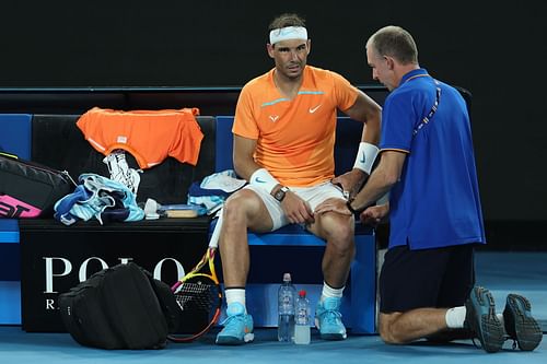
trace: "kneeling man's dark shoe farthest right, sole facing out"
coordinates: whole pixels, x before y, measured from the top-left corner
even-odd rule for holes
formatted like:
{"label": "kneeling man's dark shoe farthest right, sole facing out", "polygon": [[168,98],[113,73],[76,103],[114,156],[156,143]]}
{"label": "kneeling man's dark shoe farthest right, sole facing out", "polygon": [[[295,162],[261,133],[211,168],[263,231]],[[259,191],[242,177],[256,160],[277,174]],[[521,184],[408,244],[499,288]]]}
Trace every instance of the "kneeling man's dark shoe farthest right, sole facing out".
{"label": "kneeling man's dark shoe farthest right, sole facing out", "polygon": [[523,351],[536,349],[543,339],[543,331],[531,312],[528,300],[513,293],[508,295],[503,309],[505,331],[511,339],[516,340],[519,349]]}

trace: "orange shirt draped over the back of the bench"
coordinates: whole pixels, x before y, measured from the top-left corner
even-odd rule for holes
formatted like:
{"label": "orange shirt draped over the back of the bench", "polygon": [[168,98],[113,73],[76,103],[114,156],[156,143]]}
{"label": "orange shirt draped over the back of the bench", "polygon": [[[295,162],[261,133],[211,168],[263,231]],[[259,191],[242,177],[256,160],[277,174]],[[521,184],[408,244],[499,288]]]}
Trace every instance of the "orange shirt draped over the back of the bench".
{"label": "orange shirt draped over the back of the bench", "polygon": [[198,108],[123,111],[93,107],[77,126],[97,152],[108,155],[123,149],[142,169],[167,156],[196,165],[203,139],[196,115]]}

